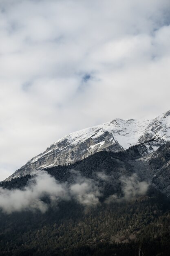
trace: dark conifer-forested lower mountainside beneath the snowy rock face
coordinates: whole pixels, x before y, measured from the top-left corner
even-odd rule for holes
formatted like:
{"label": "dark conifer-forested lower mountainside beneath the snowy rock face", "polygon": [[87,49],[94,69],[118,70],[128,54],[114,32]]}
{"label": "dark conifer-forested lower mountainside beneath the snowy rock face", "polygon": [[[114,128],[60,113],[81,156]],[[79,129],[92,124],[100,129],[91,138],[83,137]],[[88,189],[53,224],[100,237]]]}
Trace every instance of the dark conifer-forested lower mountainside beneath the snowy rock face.
{"label": "dark conifer-forested lower mountainside beneath the snowy rock face", "polygon": [[[160,190],[170,192],[170,142],[145,161],[148,146],[156,141],[119,152],[98,152],[73,164],[46,168],[46,173],[57,180],[57,186],[74,187],[78,196],[62,200],[53,200],[53,194],[43,196],[38,200],[38,205],[48,204],[43,213],[34,208],[36,198],[32,191],[41,195],[36,183],[35,189],[28,186],[31,175],[2,182],[0,191],[5,196],[4,201],[1,197],[1,207],[7,205],[8,214],[0,209],[0,255],[169,256],[170,203]],[[144,191],[149,180],[150,186]],[[47,179],[41,185],[46,183]],[[87,199],[93,200],[93,196],[99,201],[88,205]]]}

